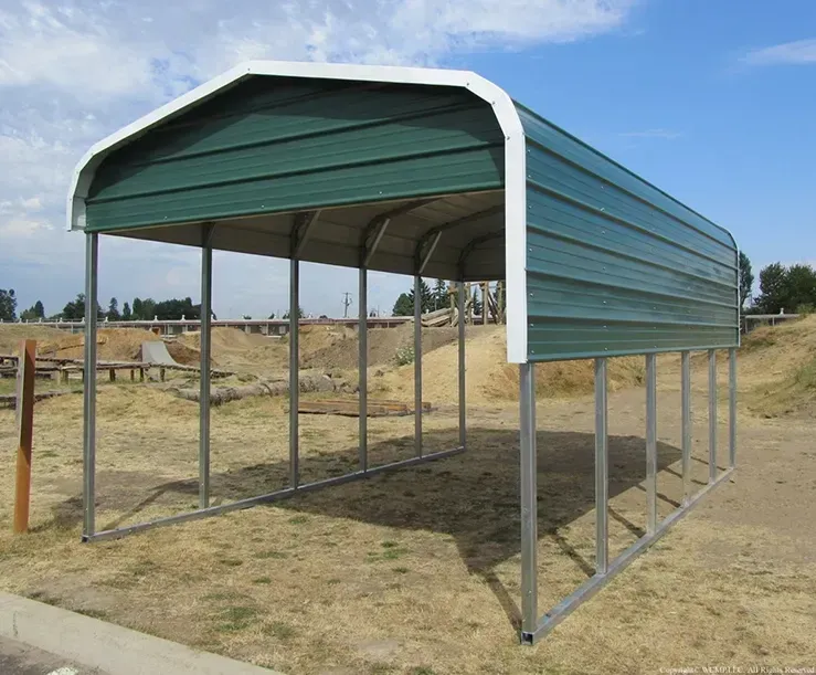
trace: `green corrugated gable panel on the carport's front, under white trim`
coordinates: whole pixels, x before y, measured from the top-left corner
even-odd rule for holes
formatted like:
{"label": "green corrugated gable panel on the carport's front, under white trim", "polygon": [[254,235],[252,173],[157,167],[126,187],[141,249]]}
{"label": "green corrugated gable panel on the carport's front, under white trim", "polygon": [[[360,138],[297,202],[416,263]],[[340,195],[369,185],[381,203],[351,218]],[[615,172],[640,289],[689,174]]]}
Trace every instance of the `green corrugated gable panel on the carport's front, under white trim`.
{"label": "green corrugated gable panel on the carport's front, under white trim", "polygon": [[99,167],[88,230],[491,190],[504,136],[460,89],[252,78]]}

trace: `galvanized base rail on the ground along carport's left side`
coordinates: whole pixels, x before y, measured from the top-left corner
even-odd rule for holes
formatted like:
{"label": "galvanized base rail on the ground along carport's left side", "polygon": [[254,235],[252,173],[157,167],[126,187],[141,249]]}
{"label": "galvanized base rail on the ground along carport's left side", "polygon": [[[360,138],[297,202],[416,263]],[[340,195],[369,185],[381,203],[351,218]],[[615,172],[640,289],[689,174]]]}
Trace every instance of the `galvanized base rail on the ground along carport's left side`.
{"label": "galvanized base rail on the ground along carport's left side", "polygon": [[316,489],[320,489],[321,487],[329,487],[331,485],[342,485],[343,483],[350,483],[352,481],[358,481],[360,478],[367,478],[368,476],[381,474],[386,471],[393,471],[396,468],[405,468],[407,466],[413,466],[414,464],[423,464],[425,462],[433,462],[434,460],[444,460],[446,457],[452,457],[454,455],[457,455],[464,451],[465,451],[464,447],[454,447],[453,450],[444,450],[441,452],[432,453],[430,455],[423,455],[421,457],[411,457],[409,460],[391,462],[390,464],[383,464],[382,466],[374,466],[364,472],[356,471],[353,473],[345,474],[342,476],[335,476],[331,478],[325,478],[322,481],[315,481],[314,483],[306,483],[304,485],[298,485],[297,487],[285,487],[277,492],[269,493],[266,495],[259,495],[257,497],[248,497],[246,499],[239,499],[237,502],[232,502],[230,504],[222,504],[220,506],[210,506],[208,508],[199,508],[197,510],[189,511],[186,514],[179,514],[178,516],[168,516],[167,518],[159,518],[157,520],[150,520],[149,523],[138,523],[136,525],[129,525],[127,527],[119,527],[117,529],[104,530],[104,531],[96,532],[91,536],[83,536],[82,540],[87,542],[87,541],[105,541],[107,539],[119,539],[127,535],[134,535],[136,532],[141,532],[147,529],[152,529],[153,527],[162,527],[165,525],[176,525],[177,523],[188,523],[190,520],[199,520],[201,518],[209,518],[210,516],[220,516],[222,514],[229,514],[230,511],[251,508],[253,506],[257,506],[258,504],[280,502],[282,499],[288,499],[289,497],[294,497],[295,495],[299,495],[303,493],[310,493]]}

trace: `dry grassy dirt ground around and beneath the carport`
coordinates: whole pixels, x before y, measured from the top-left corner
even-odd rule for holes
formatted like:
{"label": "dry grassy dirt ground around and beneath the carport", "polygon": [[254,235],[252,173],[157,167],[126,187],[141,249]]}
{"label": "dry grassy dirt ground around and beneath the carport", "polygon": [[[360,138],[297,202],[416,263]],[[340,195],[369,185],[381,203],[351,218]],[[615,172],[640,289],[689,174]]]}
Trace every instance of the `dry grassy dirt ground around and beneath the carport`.
{"label": "dry grassy dirt ground around and beneath the carport", "polygon": [[[9,534],[14,418],[0,410],[0,446],[8,449],[0,456],[0,493],[7,495],[0,503],[0,588],[293,674],[816,666],[816,502],[809,498],[816,421],[801,375],[816,356],[807,338],[814,328],[803,323],[788,334],[752,338],[741,356],[734,479],[534,648],[518,646],[516,632],[517,407],[511,387],[502,384],[504,394],[495,389],[500,373],[483,372],[483,348],[496,347],[489,330],[469,336],[467,453],[112,542],[80,544],[80,397],[38,404],[32,532]],[[428,350],[424,376],[432,393],[455,397],[455,371],[443,359],[448,349],[442,344]],[[777,362],[783,365],[772,366]],[[594,405],[582,389],[587,368],[541,369],[539,389],[551,397],[538,408],[542,610],[592,573]],[[636,387],[636,362],[614,368],[610,536],[617,552],[645,526],[645,395]],[[666,516],[681,497],[678,359],[659,357],[658,369],[658,491]],[[372,367],[372,390],[409,397],[400,371],[393,363]],[[512,386],[512,376],[504,368],[501,373]],[[724,458],[724,362],[719,376]],[[558,378],[571,382],[569,398]],[[702,486],[704,356],[693,359],[692,380],[692,475]],[[456,445],[455,398],[428,398],[435,411],[424,418],[425,446]],[[780,399],[786,401],[782,409]],[[286,485],[286,404],[283,398],[255,398],[213,410],[215,503]],[[300,416],[304,481],[354,466],[357,424]],[[369,433],[374,465],[413,453],[411,418],[371,419]],[[100,527],[195,506],[195,403],[155,386],[100,382],[97,437]]]}

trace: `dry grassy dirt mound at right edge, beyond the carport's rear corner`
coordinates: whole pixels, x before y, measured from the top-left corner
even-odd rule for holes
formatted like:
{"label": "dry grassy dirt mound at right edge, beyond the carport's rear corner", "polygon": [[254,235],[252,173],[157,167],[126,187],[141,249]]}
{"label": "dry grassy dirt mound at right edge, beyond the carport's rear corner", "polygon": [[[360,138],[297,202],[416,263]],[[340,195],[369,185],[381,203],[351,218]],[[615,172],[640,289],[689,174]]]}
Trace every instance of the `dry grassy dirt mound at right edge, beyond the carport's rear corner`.
{"label": "dry grassy dirt mound at right edge, beyond the carport's rear corner", "polygon": [[816,413],[816,316],[765,326],[743,338],[739,379],[762,416]]}

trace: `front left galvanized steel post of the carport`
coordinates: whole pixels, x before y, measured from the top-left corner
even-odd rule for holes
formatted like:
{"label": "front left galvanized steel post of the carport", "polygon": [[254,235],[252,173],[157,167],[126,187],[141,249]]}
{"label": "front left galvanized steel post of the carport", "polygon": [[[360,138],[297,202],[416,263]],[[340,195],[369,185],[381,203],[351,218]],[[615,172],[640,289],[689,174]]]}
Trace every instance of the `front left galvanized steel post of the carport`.
{"label": "front left galvanized steel post of the carport", "polygon": [[83,365],[83,539],[96,529],[96,294],[99,235],[85,235],[85,359]]}

